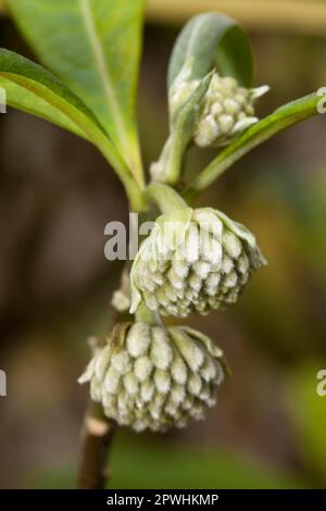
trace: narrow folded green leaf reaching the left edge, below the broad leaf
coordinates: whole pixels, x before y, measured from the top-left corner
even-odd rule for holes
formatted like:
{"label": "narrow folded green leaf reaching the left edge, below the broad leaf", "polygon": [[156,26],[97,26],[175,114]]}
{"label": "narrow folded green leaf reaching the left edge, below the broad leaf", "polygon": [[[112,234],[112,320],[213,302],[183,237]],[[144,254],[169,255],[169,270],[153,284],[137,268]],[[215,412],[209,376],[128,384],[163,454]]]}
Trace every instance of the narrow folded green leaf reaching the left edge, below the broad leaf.
{"label": "narrow folded green leaf reaching the left edge, below the broad leaf", "polygon": [[7,89],[9,104],[80,134],[97,146],[124,183],[134,207],[140,207],[140,190],[121,154],[93,113],[66,85],[40,65],[3,48],[0,85]]}

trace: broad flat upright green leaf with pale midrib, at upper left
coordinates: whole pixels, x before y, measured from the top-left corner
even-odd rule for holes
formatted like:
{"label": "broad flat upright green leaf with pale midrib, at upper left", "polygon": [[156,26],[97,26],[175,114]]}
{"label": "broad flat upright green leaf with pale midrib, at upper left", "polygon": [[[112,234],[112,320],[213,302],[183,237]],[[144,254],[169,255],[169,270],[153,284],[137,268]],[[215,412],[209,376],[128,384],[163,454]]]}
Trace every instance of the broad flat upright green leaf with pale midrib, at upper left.
{"label": "broad flat upright green leaf with pale midrib, at upper left", "polygon": [[34,51],[95,112],[141,179],[135,98],[143,0],[8,0]]}

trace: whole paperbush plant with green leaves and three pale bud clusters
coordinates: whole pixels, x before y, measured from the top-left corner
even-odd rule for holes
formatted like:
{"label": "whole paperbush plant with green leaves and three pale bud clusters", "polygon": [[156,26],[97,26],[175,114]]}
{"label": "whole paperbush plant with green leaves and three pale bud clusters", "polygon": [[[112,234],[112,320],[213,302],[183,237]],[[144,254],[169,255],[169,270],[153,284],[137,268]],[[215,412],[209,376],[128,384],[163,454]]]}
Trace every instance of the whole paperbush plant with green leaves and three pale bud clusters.
{"label": "whole paperbush plant with green leaves and three pale bud clusters", "polygon": [[[314,115],[319,98],[309,95],[259,121],[256,101],[268,87],[253,86],[246,33],[224,14],[197,15],[172,52],[170,133],[147,180],[135,114],[143,1],[7,3],[45,66],[1,49],[0,86],[8,103],[95,145],[123,183],[130,211],[146,212],[151,203],[161,210],[114,295],[117,321],[80,377],[90,382],[98,403],[89,432],[104,436],[109,426],[101,429],[97,421],[110,420],[137,431],[184,427],[214,406],[227,366],[213,340],[184,324],[166,326],[162,316],[224,309],[265,264],[252,233],[192,201],[255,146]],[[185,155],[192,145],[214,147],[216,155],[185,185]]]}

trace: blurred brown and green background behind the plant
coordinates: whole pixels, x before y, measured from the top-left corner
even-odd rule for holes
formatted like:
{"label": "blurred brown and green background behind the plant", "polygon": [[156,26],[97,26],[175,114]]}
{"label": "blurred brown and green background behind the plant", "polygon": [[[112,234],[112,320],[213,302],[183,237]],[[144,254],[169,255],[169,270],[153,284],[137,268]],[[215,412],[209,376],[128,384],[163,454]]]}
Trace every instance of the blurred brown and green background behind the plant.
{"label": "blurred brown and green background behind the plant", "polygon": [[[278,105],[326,86],[326,2],[152,0],[139,123],[146,164],[167,134],[165,76],[180,25],[222,10],[244,24],[255,85]],[[32,57],[5,12],[0,46]],[[326,116],[278,135],[229,170],[200,203],[246,224],[269,265],[240,302],[190,323],[224,349],[234,376],[206,421],[167,435],[122,428],[114,488],[326,487]],[[189,175],[212,157],[191,150]],[[118,262],[104,225],[127,222],[123,189],[87,142],[9,110],[0,115],[0,487],[74,485],[87,388],[86,339],[108,328]]]}

